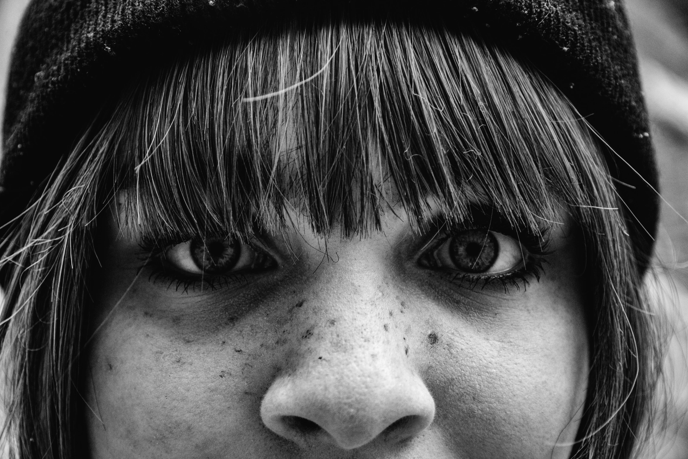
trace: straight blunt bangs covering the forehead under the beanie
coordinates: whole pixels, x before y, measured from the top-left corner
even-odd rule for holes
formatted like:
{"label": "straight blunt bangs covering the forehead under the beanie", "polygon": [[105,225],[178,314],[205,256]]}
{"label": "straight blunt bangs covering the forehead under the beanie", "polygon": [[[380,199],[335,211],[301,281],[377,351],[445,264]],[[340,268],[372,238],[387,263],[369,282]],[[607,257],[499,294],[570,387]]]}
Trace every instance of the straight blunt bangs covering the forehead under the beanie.
{"label": "straight blunt bangs covering the forehead under the beanie", "polygon": [[287,209],[365,236],[398,203],[414,228],[430,202],[470,220],[476,195],[539,234],[605,188],[581,180],[605,176],[594,141],[535,70],[398,23],[245,32],[148,74],[97,142],[117,151],[115,189],[136,190],[127,226],[164,240],[275,230]]}

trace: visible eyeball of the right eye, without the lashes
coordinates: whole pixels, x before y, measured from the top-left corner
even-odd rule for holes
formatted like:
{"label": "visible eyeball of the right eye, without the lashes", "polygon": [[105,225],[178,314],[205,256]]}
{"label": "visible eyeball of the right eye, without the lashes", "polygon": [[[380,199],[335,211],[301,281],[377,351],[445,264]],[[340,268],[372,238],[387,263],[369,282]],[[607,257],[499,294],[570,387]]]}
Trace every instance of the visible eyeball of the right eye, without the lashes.
{"label": "visible eyeball of the right eye, without the lashes", "polygon": [[499,275],[524,266],[526,253],[513,237],[470,229],[452,235],[424,254],[420,264],[468,274]]}

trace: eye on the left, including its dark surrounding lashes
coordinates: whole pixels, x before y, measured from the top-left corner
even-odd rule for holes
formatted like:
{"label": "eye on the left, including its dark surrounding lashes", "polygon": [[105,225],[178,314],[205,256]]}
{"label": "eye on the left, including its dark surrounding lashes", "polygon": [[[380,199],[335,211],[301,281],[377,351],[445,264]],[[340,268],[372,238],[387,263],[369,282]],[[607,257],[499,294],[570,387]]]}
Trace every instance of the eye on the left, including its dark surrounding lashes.
{"label": "eye on the left, including its dark surrounding lashes", "polygon": [[190,239],[149,250],[151,280],[168,281],[184,292],[226,286],[245,275],[277,267],[277,261],[254,242],[227,237]]}

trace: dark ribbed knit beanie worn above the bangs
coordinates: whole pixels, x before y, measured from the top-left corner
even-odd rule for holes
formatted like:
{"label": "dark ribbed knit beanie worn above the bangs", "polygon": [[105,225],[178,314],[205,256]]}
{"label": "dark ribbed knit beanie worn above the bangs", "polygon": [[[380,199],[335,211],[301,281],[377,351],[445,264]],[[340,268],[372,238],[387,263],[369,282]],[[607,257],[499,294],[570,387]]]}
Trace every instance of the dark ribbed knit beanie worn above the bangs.
{"label": "dark ribbed knit beanie worn above the bangs", "polygon": [[608,167],[638,268],[645,269],[658,215],[657,172],[620,0],[33,0],[10,66],[0,225],[25,209],[94,119],[103,94],[141,63],[249,21],[332,10],[440,18],[533,63],[610,147]]}

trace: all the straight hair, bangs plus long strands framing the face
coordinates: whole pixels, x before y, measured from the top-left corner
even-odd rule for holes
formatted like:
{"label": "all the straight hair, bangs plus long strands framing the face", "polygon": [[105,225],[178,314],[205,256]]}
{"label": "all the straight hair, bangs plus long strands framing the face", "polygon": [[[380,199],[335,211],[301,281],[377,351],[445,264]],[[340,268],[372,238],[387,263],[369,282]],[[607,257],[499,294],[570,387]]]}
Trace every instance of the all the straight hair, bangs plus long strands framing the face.
{"label": "all the straight hair, bangs plus long strands framing the face", "polygon": [[75,432],[89,273],[99,266],[98,215],[120,191],[141,237],[182,241],[280,231],[285,209],[324,237],[333,228],[365,237],[380,229],[394,187],[413,228],[430,200],[449,219],[470,219],[471,192],[537,234],[561,209],[572,216],[591,292],[573,455],[629,458],[660,359],[601,145],[528,63],[442,24],[255,25],[142,71],[3,243],[10,450],[88,456]]}

